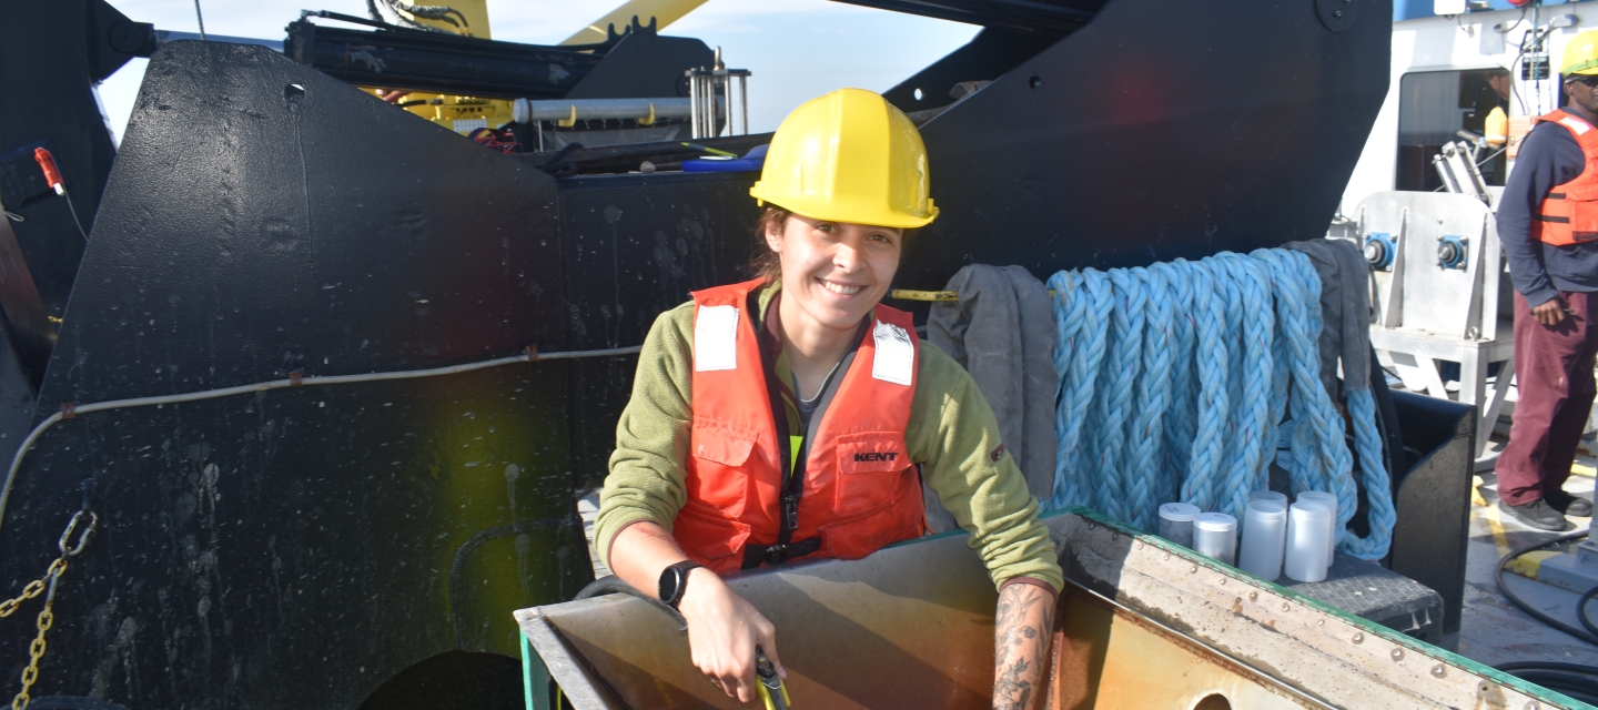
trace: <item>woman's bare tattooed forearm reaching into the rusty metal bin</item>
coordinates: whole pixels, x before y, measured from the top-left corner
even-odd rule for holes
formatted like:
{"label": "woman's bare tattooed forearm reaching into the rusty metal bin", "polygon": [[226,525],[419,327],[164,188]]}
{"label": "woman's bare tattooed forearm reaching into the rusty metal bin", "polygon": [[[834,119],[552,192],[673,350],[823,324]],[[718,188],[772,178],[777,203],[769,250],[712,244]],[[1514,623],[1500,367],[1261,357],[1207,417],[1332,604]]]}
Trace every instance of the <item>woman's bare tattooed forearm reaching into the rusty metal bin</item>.
{"label": "woman's bare tattooed forearm reaching into the rusty metal bin", "polygon": [[1043,697],[1056,596],[1034,584],[999,590],[994,614],[994,710],[1026,710]]}

